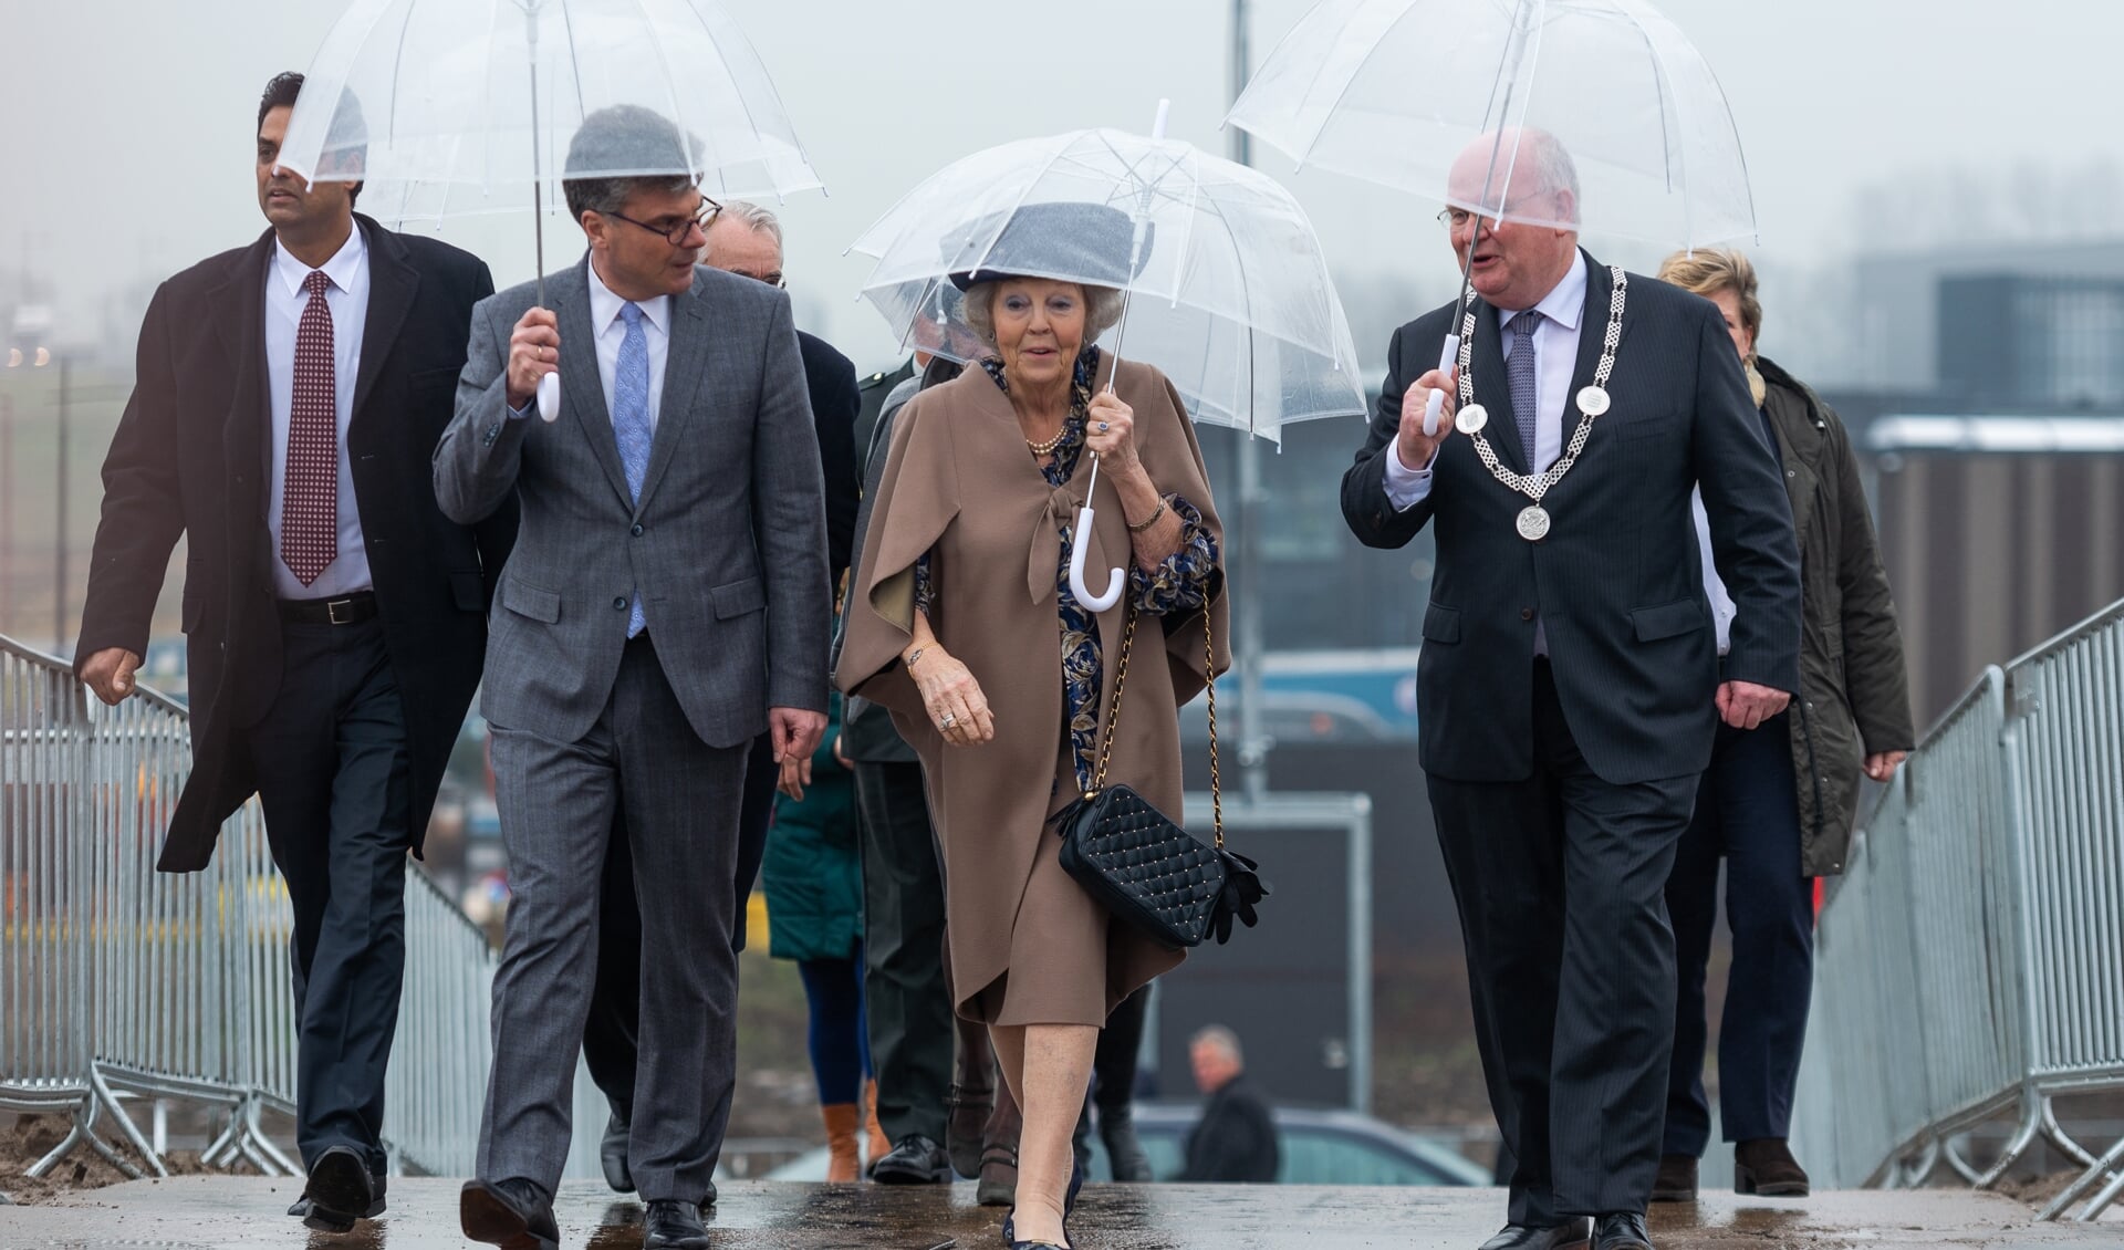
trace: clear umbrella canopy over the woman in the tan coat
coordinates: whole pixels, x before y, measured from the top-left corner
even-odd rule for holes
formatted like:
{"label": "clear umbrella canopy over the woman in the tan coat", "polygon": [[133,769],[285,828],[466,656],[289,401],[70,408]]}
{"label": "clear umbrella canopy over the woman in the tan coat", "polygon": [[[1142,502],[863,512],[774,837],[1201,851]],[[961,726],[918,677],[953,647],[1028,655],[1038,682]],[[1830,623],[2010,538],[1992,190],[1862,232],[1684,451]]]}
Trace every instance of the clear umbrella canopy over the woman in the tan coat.
{"label": "clear umbrella canopy over the woman in the tan coat", "polygon": [[903,344],[986,348],[960,291],[1037,276],[1130,295],[1107,331],[1158,365],[1196,420],[1277,437],[1364,412],[1357,350],[1319,240],[1266,174],[1179,140],[1081,129],[988,149],[924,180],[856,240],[864,295]]}

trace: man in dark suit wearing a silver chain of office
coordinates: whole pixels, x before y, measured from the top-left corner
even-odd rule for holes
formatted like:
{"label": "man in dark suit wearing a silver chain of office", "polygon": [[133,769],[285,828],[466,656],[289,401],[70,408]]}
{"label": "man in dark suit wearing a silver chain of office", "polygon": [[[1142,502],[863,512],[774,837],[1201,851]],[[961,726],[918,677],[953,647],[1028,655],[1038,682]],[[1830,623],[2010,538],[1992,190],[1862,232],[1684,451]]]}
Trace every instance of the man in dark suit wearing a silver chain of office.
{"label": "man in dark suit wearing a silver chain of office", "polygon": [[[1578,250],[1578,174],[1517,136],[1455,166],[1470,376],[1432,369],[1449,303],[1387,348],[1342,518],[1374,548],[1438,541],[1417,662],[1419,751],[1459,902],[1489,1101],[1517,1159],[1485,1250],[1650,1250],[1674,1046],[1665,881],[1720,719],[1799,688],[1791,505],[1718,310]],[[1459,329],[1453,325],[1453,329]],[[1468,422],[1425,431],[1434,390]],[[1457,416],[1449,399],[1444,416]],[[1720,658],[1691,520],[1740,615]],[[1593,1216],[1591,1229],[1587,1218]]]}

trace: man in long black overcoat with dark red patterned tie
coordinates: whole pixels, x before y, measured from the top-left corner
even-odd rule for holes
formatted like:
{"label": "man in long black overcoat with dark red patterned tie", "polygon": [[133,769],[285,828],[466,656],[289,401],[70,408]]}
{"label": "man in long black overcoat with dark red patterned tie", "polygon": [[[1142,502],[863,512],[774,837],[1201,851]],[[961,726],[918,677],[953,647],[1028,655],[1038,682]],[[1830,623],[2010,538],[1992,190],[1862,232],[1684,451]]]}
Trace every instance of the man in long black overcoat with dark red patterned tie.
{"label": "man in long black overcoat with dark red patterned tie", "polygon": [[[204,870],[221,821],[259,796],[295,913],[308,1184],[289,1214],[344,1233],[384,1212],[406,853],[478,685],[516,503],[461,524],[427,471],[486,265],[357,214],[361,183],[280,168],[302,89],[278,74],[259,100],[266,233],[164,282],[140,325],[74,671],[104,702],[134,692],[185,535],[193,766],[157,868]],[[357,151],[357,102],[323,104],[329,146]]]}

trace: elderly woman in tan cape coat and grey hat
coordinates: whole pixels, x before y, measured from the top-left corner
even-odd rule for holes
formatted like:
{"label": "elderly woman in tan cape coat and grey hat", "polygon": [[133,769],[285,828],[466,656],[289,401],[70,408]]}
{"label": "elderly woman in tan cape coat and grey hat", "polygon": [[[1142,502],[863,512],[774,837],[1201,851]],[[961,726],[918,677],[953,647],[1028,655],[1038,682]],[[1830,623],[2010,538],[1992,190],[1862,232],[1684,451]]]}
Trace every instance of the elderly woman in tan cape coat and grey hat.
{"label": "elderly woman in tan cape coat and grey hat", "polygon": [[[1092,346],[1119,314],[1115,291],[1011,270],[1043,231],[1083,238],[1087,212],[1111,210],[1022,208],[979,274],[954,276],[994,354],[898,416],[837,671],[922,756],[956,1008],[988,1025],[1024,1108],[1005,1235],[1026,1248],[1068,1246],[1070,1129],[1107,1012],[1181,961],[1060,868],[1049,817],[1090,787],[1102,732],[1109,781],[1179,817],[1179,707],[1211,677],[1202,630],[1226,637],[1223,531],[1179,393]],[[1109,236],[1126,257],[1126,219]],[[1111,261],[1115,282],[1124,270]],[[1092,456],[1102,488],[1094,531],[1077,535],[1085,565],[1096,577],[1128,565],[1102,613],[1068,588]],[[1128,698],[1109,728],[1130,618]]]}

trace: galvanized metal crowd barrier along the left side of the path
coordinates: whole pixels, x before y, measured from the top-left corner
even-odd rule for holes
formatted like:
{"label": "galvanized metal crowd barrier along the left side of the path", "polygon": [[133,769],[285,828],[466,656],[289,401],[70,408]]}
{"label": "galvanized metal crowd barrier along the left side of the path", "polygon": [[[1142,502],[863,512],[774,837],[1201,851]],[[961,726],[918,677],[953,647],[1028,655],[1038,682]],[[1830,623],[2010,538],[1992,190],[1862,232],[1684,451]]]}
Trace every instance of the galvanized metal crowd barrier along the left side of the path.
{"label": "galvanized metal crowd barrier along the left side of the path", "polygon": [[[0,1108],[72,1116],[32,1176],[81,1146],[166,1174],[127,1097],[219,1108],[208,1163],[299,1171],[261,1127],[295,1106],[287,887],[257,800],[204,872],[155,872],[189,768],[181,705],[142,688],[104,707],[68,664],[0,637]],[[493,976],[486,936],[408,860],[384,1095],[395,1167],[472,1171]],[[569,1176],[597,1176],[603,1099],[582,1072],[576,1087]]]}

